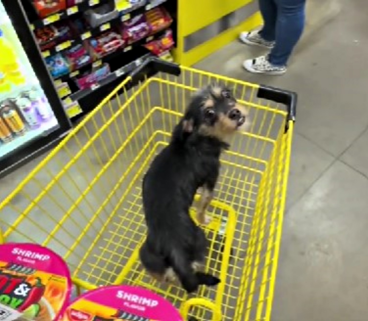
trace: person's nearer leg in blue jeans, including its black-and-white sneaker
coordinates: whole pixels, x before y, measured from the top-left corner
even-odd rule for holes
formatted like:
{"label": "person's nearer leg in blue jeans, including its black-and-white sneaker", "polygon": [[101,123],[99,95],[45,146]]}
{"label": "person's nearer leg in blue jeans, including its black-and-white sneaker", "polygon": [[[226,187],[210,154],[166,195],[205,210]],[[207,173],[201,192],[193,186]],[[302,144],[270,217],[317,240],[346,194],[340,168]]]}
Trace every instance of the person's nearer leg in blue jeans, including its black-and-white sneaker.
{"label": "person's nearer leg in blue jeans, including its black-and-white sneaker", "polygon": [[283,74],[305,23],[305,0],[275,0],[277,7],[275,46],[268,56],[244,61],[252,73]]}

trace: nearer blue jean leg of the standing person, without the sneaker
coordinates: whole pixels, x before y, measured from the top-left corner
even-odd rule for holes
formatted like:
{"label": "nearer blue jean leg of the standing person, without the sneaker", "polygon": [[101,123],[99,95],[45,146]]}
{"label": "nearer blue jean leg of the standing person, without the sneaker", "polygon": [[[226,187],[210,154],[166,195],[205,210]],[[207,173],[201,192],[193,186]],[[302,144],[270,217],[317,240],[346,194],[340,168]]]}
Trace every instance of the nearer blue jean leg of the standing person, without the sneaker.
{"label": "nearer blue jean leg of the standing person, without the sneaker", "polygon": [[275,0],[277,3],[276,41],[269,62],[286,66],[304,29],[305,0]]}

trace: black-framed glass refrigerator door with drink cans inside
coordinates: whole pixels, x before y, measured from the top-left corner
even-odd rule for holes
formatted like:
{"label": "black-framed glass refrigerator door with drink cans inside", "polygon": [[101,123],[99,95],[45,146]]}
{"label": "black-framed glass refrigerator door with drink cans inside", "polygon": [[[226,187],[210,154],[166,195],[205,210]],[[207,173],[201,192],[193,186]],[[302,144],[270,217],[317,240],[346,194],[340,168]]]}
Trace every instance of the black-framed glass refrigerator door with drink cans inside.
{"label": "black-framed glass refrigerator door with drink cans inside", "polygon": [[0,0],[0,175],[71,125],[17,0]]}

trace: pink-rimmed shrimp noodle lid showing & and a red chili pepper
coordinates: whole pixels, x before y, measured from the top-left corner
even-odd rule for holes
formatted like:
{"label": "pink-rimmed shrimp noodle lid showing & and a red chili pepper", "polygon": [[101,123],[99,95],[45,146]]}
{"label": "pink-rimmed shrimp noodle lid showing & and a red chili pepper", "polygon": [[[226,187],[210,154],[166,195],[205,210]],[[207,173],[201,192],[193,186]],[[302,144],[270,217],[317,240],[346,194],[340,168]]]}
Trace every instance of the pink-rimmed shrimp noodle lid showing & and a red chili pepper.
{"label": "pink-rimmed shrimp noodle lid showing & and a red chili pepper", "polygon": [[29,243],[0,245],[0,311],[6,320],[57,320],[70,291],[69,269],[53,251]]}

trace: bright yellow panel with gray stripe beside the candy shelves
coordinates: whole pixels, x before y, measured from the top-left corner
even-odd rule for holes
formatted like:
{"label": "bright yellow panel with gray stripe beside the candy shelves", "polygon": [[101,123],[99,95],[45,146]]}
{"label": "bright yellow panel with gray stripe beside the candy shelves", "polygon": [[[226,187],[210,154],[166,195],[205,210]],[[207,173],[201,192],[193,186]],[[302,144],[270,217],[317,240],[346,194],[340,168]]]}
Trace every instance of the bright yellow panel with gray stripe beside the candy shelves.
{"label": "bright yellow panel with gray stripe beside the candy shelves", "polygon": [[191,66],[262,23],[258,0],[178,0],[177,63]]}

